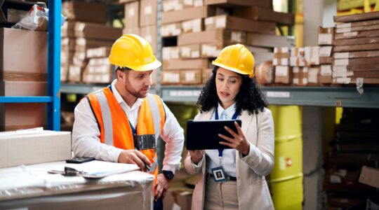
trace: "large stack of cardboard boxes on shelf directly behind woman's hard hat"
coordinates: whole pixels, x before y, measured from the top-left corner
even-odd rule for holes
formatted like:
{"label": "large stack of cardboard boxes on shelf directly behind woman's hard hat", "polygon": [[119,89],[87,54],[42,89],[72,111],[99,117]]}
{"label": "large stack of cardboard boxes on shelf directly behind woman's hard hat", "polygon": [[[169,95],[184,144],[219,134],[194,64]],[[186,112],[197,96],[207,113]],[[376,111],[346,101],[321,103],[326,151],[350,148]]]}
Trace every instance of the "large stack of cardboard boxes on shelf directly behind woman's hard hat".
{"label": "large stack of cardboard boxes on shelf directly behind woman's hard hat", "polygon": [[272,59],[274,46],[293,46],[293,38],[275,36],[276,23],[292,25],[293,15],[274,12],[272,1],[232,2],[163,1],[161,36],[173,44],[163,48],[161,84],[205,83],[211,60],[227,45],[246,45],[255,64]]}

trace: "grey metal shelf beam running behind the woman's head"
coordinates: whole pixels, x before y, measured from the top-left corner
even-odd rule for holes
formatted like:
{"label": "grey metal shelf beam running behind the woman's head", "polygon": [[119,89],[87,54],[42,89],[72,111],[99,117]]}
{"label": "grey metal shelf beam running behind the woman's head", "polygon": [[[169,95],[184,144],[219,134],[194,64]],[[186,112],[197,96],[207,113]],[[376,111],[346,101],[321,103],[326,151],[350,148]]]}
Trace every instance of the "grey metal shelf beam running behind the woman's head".
{"label": "grey metal shelf beam running behind the woman's head", "polygon": [[[269,104],[379,108],[379,87],[261,87]],[[165,102],[197,102],[199,86],[162,86]]]}

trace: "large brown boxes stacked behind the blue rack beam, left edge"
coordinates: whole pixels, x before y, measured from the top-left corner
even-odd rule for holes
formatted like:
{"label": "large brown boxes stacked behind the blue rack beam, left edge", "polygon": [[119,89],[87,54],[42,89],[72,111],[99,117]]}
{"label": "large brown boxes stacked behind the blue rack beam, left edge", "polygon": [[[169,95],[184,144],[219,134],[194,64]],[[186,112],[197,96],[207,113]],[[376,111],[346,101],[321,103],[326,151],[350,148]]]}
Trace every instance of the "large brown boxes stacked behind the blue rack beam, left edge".
{"label": "large brown boxes stacked behind the blue rack beam, left edge", "polygon": [[[0,97],[47,95],[47,32],[0,29]],[[0,131],[46,127],[46,104],[0,103]]]}

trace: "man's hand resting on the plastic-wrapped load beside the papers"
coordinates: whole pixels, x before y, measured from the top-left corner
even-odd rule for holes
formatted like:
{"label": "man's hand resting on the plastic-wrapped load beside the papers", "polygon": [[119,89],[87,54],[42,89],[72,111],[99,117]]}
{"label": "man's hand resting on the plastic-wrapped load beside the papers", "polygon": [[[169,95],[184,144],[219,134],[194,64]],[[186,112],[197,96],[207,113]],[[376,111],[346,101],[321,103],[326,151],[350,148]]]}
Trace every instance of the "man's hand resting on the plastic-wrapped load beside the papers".
{"label": "man's hand resting on the plastic-wrapped load beside the papers", "polygon": [[143,153],[136,150],[125,150],[122,151],[119,155],[120,163],[129,163],[129,164],[136,164],[138,167],[140,167],[140,170],[142,172],[147,172],[147,169],[145,167],[145,163],[148,167],[152,165],[152,162],[150,162],[149,158],[146,157]]}

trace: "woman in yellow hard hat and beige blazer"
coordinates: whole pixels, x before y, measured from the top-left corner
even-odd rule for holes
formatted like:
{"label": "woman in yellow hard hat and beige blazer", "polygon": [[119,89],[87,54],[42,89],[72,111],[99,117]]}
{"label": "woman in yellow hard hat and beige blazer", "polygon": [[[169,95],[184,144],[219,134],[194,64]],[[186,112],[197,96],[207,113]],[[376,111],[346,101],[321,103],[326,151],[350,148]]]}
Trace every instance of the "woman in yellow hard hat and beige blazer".
{"label": "woman in yellow hard hat and beige blazer", "polygon": [[233,138],[220,134],[233,149],[189,151],[185,169],[201,174],[192,209],[274,209],[265,176],[274,167],[274,123],[253,80],[254,57],[241,44],[222,49],[213,75],[201,91],[195,120],[234,120]]}

